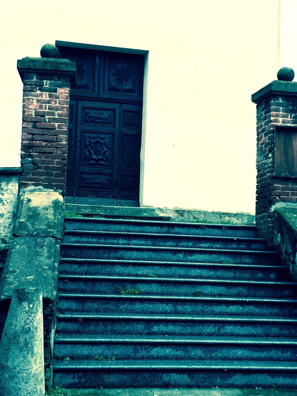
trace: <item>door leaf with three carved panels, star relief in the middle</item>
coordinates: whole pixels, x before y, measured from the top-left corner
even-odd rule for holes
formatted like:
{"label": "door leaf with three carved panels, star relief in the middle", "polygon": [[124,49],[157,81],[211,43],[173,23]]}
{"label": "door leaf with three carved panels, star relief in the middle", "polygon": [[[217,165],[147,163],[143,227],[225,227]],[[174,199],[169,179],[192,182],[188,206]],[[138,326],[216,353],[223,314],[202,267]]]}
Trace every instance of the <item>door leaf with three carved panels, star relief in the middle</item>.
{"label": "door leaf with three carved panels, star relief in the middle", "polygon": [[119,116],[117,103],[78,101],[76,196],[116,200]]}

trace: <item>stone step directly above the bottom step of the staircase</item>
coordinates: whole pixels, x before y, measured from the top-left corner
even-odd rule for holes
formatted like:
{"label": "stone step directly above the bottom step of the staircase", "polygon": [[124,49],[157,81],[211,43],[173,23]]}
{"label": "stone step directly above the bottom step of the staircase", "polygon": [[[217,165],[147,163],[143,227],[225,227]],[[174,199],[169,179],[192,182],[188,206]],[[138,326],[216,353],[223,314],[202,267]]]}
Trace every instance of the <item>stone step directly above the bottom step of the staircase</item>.
{"label": "stone step directly above the bottom step of the staircase", "polygon": [[55,358],[297,361],[297,340],[273,337],[63,334]]}

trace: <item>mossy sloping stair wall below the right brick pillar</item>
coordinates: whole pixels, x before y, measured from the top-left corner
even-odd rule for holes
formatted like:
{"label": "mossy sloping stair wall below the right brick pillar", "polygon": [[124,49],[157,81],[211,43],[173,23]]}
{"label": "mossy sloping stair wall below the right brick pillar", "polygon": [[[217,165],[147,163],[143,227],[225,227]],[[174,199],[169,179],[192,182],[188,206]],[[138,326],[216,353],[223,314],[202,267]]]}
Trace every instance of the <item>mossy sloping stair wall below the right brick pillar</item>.
{"label": "mossy sloping stair wall below the right brick pillar", "polygon": [[297,206],[274,209],[274,244],[289,274],[297,280]]}

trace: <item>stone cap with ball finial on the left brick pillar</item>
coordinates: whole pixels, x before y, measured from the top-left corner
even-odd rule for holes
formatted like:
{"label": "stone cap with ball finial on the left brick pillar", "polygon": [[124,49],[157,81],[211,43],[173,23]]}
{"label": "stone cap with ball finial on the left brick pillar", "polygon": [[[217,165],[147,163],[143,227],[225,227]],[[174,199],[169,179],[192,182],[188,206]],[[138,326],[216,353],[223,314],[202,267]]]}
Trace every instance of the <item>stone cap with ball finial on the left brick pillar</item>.
{"label": "stone cap with ball finial on the left brick pillar", "polygon": [[42,55],[41,58],[25,57],[23,59],[18,59],[17,70],[22,81],[24,73],[38,72],[44,74],[55,74],[58,76],[70,76],[71,86],[75,85],[75,62],[71,62],[69,59],[59,59],[57,57],[59,55],[59,51],[52,44],[45,44],[40,53]]}

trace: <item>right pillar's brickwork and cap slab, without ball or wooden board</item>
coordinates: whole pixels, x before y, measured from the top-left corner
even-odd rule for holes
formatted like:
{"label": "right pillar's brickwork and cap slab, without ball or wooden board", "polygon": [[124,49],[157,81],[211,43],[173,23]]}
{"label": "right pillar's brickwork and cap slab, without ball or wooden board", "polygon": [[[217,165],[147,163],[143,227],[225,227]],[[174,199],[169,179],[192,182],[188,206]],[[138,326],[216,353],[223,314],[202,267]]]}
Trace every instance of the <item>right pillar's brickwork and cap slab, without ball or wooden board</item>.
{"label": "right pillar's brickwork and cap slab, without ball or wooden board", "polygon": [[273,208],[297,202],[297,179],[274,176],[274,128],[297,127],[297,83],[273,81],[252,95],[257,103],[257,189],[255,221],[258,236],[274,240]]}

